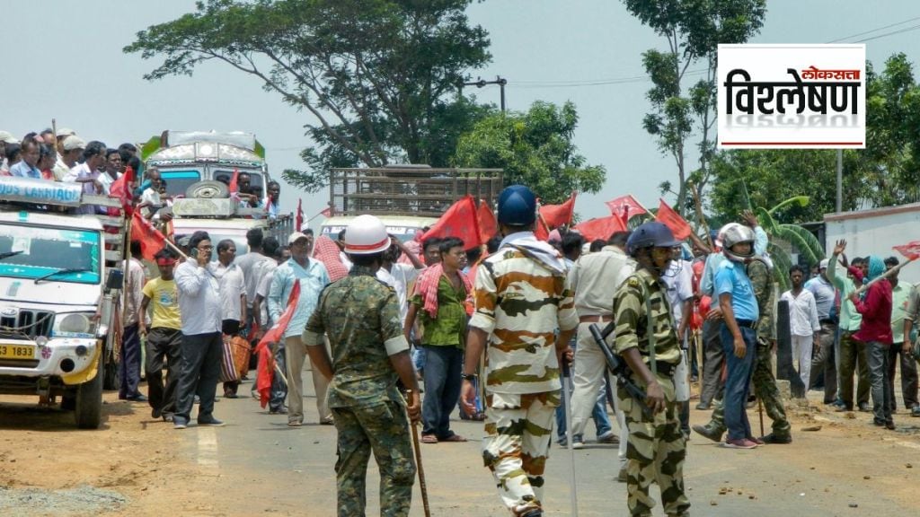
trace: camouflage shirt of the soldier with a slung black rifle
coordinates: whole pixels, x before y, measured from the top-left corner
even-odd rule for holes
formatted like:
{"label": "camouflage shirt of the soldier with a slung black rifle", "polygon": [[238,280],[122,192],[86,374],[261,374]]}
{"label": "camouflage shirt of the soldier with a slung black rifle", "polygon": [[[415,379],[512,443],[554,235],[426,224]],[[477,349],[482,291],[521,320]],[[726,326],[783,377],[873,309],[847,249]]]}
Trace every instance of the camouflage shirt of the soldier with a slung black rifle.
{"label": "camouflage shirt of the soldier with a slung black rifle", "polygon": [[[677,364],[681,361],[680,343],[674,328],[671,305],[666,296],[667,286],[655,280],[648,270],[639,269],[616,290],[614,319],[616,338],[614,348],[624,351],[638,348],[642,358],[649,362],[649,317],[655,335],[655,362]],[[646,296],[650,296],[651,314],[647,314]]]}

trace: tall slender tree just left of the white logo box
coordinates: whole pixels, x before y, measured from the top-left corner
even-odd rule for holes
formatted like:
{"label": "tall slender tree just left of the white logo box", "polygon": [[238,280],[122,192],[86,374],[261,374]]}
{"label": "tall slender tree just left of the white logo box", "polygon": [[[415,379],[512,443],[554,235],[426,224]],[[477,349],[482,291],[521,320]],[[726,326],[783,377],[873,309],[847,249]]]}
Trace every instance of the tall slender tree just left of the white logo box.
{"label": "tall slender tree just left of the white logo box", "polygon": [[[666,51],[651,49],[642,63],[652,87],[647,93],[651,111],[642,126],[654,135],[661,153],[677,166],[677,209],[688,205],[688,179],[702,199],[709,182],[709,160],[715,151],[716,56],[719,43],[743,43],[760,31],[766,0],[623,0],[627,10],[667,40]],[[691,66],[701,66],[703,77],[685,87]],[[686,163],[694,135],[699,167]],[[670,181],[661,190],[673,191]]]}

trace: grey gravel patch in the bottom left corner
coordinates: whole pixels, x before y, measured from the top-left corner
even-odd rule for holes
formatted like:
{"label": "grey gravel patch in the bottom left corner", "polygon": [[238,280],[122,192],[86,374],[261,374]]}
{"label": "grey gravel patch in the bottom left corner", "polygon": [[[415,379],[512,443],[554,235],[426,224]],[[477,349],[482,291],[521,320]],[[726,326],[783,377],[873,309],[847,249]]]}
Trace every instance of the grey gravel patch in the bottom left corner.
{"label": "grey gravel patch in the bottom left corner", "polygon": [[118,511],[128,498],[114,490],[82,486],[62,490],[0,487],[0,515],[76,517]]}

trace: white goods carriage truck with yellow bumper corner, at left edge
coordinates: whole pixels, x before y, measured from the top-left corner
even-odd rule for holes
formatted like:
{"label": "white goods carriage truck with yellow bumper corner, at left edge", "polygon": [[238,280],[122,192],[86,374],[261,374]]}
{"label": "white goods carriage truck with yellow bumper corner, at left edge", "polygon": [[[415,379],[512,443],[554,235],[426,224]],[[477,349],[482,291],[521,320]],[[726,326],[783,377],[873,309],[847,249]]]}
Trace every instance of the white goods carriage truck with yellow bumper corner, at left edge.
{"label": "white goods carriage truck with yellow bumper corner, at left edge", "polygon": [[[75,215],[95,205],[117,215]],[[0,178],[0,394],[39,396],[102,419],[106,358],[115,350],[125,221],[117,199],[80,184]]]}

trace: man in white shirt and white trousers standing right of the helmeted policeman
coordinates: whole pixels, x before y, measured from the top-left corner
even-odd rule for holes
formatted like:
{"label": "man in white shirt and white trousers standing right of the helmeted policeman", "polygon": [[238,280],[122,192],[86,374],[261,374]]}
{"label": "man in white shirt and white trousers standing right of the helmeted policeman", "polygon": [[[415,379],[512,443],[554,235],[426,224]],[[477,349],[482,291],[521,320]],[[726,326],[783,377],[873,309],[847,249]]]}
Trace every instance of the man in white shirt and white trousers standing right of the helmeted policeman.
{"label": "man in white shirt and white trousers standing right of the helmeted policeman", "polygon": [[818,304],[811,291],[803,289],[805,273],[798,266],[789,268],[792,289],[779,298],[789,304],[789,333],[792,337],[792,357],[799,361],[799,377],[808,390],[811,376],[811,350],[818,345],[821,322],[818,320]]}

